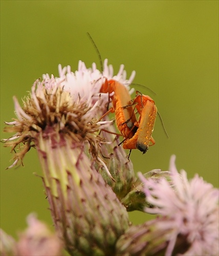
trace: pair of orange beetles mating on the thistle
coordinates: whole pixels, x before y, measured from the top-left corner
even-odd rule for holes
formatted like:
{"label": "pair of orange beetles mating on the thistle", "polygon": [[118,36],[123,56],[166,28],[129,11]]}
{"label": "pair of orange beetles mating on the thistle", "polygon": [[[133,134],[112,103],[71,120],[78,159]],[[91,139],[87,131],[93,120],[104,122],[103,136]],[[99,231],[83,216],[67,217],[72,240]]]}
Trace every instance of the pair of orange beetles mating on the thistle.
{"label": "pair of orange beetles mating on the thistle", "polygon": [[[113,107],[104,116],[109,112],[115,113],[118,130],[124,137],[120,144],[123,143],[123,148],[130,151],[137,148],[145,154],[148,146],[155,144],[155,140],[151,136],[157,116],[155,101],[138,91],[132,101],[127,88],[115,80],[106,79],[100,92],[108,93],[112,100]],[[114,94],[110,96],[113,92]],[[135,109],[139,113],[138,120]]]}

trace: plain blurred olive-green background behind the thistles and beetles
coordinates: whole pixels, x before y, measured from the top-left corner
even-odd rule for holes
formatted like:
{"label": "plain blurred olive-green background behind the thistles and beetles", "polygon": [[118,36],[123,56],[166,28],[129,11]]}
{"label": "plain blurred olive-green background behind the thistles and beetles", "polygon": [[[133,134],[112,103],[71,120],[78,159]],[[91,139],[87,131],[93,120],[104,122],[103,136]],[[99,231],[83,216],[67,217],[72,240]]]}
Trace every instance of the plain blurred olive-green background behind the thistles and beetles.
{"label": "plain blurred olive-green background behind the thistles and beetles", "polygon": [[[142,155],[133,151],[136,172],[166,170],[177,155],[178,169],[195,173],[218,187],[218,1],[1,1],[1,138],[4,121],[14,117],[12,96],[19,101],[44,73],[58,75],[57,66],[78,60],[87,67],[102,58],[117,73],[136,70],[137,88],[155,99],[169,139],[156,121],[156,145]],[[15,236],[25,218],[37,212],[52,226],[35,150],[25,167],[11,164],[1,143],[1,227]],[[132,212],[142,223],[147,216]]]}

